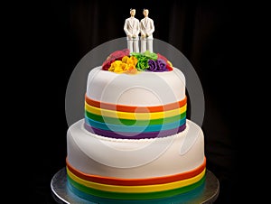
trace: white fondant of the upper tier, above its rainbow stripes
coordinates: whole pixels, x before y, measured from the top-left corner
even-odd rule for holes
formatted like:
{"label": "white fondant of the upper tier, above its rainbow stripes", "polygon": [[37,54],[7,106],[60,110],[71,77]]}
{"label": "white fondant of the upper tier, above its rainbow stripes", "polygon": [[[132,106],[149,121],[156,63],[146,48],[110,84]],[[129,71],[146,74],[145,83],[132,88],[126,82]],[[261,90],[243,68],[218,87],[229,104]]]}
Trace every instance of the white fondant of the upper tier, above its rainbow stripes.
{"label": "white fondant of the upper tier, above its rainbow stripes", "polygon": [[161,106],[185,97],[181,70],[118,74],[97,67],[89,71],[87,96],[101,102],[126,106]]}

